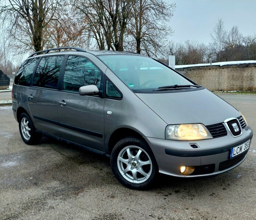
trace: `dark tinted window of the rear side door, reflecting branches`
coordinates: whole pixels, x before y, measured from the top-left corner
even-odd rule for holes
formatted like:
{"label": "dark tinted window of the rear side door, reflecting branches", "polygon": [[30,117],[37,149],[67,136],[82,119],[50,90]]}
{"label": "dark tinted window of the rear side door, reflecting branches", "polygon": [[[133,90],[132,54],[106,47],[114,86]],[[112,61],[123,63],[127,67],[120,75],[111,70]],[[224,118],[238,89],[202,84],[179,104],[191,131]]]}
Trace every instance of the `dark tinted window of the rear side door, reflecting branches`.
{"label": "dark tinted window of the rear side door, reflecting branches", "polygon": [[62,60],[63,56],[43,57],[36,69],[33,85],[57,89]]}

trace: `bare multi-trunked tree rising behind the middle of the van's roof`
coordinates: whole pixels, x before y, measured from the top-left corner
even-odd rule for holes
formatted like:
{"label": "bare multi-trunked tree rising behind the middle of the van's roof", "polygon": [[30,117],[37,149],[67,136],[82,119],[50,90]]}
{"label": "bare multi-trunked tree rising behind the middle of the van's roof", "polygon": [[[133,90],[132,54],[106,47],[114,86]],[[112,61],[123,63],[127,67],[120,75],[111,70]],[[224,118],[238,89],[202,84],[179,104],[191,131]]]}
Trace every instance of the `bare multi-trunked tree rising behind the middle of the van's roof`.
{"label": "bare multi-trunked tree rising behind the middle of the van's roof", "polygon": [[99,49],[122,51],[131,4],[130,0],[81,0],[74,6],[88,38],[93,38]]}

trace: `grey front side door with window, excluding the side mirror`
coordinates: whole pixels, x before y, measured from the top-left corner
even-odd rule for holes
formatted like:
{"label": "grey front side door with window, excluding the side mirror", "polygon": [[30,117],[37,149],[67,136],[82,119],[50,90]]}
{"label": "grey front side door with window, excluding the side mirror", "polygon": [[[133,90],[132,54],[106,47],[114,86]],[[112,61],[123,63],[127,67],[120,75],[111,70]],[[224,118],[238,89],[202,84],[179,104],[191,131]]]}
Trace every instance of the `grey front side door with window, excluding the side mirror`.
{"label": "grey front side door with window, excluding the side mirror", "polygon": [[100,87],[102,72],[83,56],[68,57],[60,92],[58,117],[61,137],[99,151],[104,151],[104,99],[99,95],[81,96],[83,85]]}

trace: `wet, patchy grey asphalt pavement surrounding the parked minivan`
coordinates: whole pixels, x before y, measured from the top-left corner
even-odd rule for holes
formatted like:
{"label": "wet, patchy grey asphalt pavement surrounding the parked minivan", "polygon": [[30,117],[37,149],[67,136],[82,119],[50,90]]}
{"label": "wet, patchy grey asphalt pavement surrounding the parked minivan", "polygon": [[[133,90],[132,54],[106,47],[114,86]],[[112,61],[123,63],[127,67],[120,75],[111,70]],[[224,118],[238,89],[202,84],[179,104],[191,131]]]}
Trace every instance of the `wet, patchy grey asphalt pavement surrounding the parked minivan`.
{"label": "wet, patchy grey asphalt pavement surrounding the parked minivan", "polygon": [[[256,132],[256,96],[220,95]],[[237,168],[215,177],[160,175],[146,191],[123,187],[109,159],[44,137],[26,145],[11,106],[0,106],[0,219],[256,219],[256,138]]]}

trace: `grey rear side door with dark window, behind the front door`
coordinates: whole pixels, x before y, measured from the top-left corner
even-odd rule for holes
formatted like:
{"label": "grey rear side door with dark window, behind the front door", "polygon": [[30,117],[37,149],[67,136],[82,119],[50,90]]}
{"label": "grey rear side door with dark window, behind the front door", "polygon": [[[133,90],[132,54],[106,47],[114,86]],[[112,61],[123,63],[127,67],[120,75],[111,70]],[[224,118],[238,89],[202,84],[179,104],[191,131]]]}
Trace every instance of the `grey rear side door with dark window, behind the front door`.
{"label": "grey rear side door with dark window, behind the front door", "polygon": [[64,56],[45,56],[39,62],[32,86],[27,93],[28,106],[35,127],[58,136],[58,77]]}

